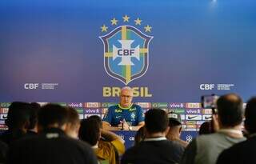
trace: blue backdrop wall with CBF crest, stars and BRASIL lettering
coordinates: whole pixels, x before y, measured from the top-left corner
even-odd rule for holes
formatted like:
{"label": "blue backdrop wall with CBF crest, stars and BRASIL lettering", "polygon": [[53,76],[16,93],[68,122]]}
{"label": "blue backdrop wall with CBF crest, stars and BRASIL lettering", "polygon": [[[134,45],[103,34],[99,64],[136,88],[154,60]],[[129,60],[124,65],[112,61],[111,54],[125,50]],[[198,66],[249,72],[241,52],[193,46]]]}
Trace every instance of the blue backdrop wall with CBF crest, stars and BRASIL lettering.
{"label": "blue backdrop wall with CBF crest, stars and BRASIL lettering", "polygon": [[2,0],[0,102],[118,102],[122,86],[151,105],[229,92],[246,101],[256,90],[255,7],[254,0]]}

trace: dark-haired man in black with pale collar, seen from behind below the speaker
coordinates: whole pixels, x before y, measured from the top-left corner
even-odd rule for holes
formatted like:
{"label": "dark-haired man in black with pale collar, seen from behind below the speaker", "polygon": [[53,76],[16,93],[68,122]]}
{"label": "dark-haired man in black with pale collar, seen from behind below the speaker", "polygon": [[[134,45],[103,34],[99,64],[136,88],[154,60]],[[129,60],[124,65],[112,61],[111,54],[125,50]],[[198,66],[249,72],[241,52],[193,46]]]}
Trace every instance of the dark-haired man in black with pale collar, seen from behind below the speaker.
{"label": "dark-haired man in black with pale collar, seen from behind below the speaker", "polygon": [[126,150],[122,164],[174,164],[182,158],[184,148],[166,139],[169,119],[164,110],[151,109],[145,115],[146,138]]}

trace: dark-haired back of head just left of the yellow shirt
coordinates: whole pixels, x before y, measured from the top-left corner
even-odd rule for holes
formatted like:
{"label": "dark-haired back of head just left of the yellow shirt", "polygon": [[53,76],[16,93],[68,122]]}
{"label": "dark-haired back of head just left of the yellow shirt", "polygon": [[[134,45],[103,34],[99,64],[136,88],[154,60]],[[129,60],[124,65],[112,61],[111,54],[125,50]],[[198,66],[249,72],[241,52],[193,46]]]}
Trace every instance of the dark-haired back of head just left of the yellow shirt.
{"label": "dark-haired back of head just left of the yellow shirt", "polygon": [[82,141],[88,142],[91,146],[96,145],[100,138],[100,127],[94,119],[83,119],[78,132],[78,137]]}

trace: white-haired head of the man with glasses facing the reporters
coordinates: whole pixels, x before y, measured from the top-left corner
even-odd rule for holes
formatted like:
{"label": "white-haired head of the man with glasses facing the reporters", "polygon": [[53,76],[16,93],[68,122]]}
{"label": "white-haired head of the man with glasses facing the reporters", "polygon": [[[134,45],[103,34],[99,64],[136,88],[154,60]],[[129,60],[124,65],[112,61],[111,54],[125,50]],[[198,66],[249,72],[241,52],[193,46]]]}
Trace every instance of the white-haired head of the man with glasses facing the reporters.
{"label": "white-haired head of the man with glasses facing the reporters", "polygon": [[134,92],[129,86],[122,88],[120,93],[120,106],[127,108],[131,105],[133,100]]}

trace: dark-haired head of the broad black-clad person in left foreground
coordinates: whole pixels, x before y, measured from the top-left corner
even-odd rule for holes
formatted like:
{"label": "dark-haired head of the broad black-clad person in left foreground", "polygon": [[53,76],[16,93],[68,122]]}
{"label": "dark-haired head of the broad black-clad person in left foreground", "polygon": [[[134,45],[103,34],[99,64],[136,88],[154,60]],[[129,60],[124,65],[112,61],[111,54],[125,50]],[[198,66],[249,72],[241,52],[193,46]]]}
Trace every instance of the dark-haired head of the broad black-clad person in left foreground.
{"label": "dark-haired head of the broad black-clad person in left foreground", "polygon": [[68,121],[68,110],[58,104],[46,104],[38,111],[38,125],[43,129],[57,124],[60,128]]}

